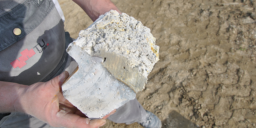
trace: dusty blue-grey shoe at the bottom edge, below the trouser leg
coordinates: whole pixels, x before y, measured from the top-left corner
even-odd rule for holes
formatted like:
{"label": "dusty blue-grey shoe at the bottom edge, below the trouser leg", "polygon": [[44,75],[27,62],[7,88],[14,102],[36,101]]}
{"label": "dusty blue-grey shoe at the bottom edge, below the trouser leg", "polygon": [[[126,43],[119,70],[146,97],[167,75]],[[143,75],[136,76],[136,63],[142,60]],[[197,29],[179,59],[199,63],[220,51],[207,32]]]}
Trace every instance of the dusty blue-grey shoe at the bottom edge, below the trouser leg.
{"label": "dusty blue-grey shoe at the bottom edge, below the trouser leg", "polygon": [[147,111],[147,117],[144,120],[139,121],[138,123],[145,128],[161,128],[162,122],[161,120],[154,115],[152,112]]}

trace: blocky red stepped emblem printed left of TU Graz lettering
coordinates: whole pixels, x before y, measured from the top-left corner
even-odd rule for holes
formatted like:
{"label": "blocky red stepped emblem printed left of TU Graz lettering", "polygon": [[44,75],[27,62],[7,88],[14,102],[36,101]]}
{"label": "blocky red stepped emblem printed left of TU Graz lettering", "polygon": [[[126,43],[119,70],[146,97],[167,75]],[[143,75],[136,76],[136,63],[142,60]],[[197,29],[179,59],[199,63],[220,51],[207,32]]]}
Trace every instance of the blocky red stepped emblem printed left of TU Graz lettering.
{"label": "blocky red stepped emblem printed left of TU Graz lettering", "polygon": [[28,60],[29,58],[31,58],[33,55],[35,55],[35,51],[31,48],[31,50],[28,50],[27,48],[25,50],[23,50],[21,52],[21,57],[19,57],[18,59],[14,60],[11,62],[11,65],[13,66],[13,68],[19,67],[22,68],[23,66],[25,66],[27,63],[25,62],[26,60]]}

